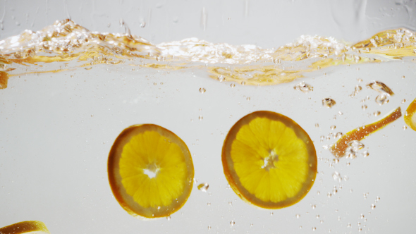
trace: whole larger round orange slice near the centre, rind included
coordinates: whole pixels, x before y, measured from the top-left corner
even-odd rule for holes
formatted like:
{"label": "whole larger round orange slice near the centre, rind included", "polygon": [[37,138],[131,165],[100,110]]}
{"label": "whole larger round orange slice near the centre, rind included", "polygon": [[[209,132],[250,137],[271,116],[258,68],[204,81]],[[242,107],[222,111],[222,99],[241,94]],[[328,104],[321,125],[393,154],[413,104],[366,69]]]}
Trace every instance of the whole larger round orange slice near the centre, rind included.
{"label": "whole larger round orange slice near the centre, rind included", "polygon": [[299,202],[314,184],[317,154],[295,121],[271,111],[241,118],[222,149],[224,174],[245,202],[279,209]]}

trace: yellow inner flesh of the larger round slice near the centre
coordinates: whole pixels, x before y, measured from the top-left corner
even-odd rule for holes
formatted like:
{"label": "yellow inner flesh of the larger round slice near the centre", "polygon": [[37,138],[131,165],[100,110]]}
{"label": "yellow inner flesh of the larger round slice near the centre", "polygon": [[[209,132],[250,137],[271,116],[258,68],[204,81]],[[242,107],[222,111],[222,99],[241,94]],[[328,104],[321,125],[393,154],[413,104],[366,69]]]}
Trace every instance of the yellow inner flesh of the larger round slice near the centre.
{"label": "yellow inner flesh of the larger round slice near the centre", "polygon": [[242,125],[230,155],[241,185],[263,202],[282,202],[304,189],[307,145],[281,121],[257,117]]}

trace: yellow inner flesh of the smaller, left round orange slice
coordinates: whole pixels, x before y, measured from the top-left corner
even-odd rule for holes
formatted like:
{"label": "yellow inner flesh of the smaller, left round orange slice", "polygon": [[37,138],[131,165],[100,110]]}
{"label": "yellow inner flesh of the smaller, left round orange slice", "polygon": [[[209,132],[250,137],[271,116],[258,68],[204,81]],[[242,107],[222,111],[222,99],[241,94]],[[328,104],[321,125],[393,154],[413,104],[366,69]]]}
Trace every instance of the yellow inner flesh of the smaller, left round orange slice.
{"label": "yellow inner flesh of the smaller, left round orange slice", "polygon": [[132,137],[119,166],[123,187],[141,207],[167,207],[185,189],[188,171],[181,147],[156,131]]}

